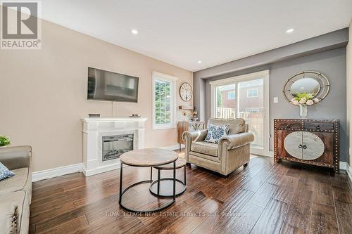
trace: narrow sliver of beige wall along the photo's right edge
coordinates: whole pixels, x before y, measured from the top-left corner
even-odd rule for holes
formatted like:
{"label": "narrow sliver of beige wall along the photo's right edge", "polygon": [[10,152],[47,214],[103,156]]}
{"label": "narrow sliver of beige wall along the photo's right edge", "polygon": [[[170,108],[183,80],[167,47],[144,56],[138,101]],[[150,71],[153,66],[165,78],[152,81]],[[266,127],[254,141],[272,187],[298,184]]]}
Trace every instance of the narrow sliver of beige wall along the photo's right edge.
{"label": "narrow sliver of beige wall along the photo's right edge", "polygon": [[348,28],[348,45],[346,48],[346,68],[347,68],[347,131],[349,138],[349,165],[352,166],[352,18]]}

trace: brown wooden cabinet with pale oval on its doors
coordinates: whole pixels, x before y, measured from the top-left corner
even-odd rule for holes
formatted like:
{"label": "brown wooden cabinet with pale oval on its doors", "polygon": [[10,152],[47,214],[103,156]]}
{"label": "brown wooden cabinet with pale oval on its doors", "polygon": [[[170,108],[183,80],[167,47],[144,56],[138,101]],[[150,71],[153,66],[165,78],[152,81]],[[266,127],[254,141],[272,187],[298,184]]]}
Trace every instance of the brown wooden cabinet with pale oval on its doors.
{"label": "brown wooden cabinet with pale oval on its doors", "polygon": [[339,119],[275,119],[274,160],[329,167],[339,173]]}

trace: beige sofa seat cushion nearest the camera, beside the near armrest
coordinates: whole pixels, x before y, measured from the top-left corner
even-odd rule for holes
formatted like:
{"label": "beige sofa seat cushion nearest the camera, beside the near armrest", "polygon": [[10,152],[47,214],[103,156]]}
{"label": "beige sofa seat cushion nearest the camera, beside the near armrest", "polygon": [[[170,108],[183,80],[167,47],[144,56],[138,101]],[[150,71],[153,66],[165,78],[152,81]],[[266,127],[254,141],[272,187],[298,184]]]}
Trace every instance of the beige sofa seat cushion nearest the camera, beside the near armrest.
{"label": "beige sofa seat cushion nearest the camera, beside the near armrest", "polygon": [[16,226],[20,234],[28,233],[30,226],[30,204],[27,201],[27,193],[25,193],[25,190],[0,195],[0,203],[14,202],[17,204],[18,209],[17,212],[15,212],[17,220]]}

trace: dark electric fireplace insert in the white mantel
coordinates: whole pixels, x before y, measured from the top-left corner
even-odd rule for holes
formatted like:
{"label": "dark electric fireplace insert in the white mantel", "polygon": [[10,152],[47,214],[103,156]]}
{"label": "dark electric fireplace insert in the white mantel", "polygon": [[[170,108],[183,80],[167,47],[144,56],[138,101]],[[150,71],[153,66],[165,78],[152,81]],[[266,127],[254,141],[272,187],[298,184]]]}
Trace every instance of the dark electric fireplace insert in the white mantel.
{"label": "dark electric fireplace insert in the white mantel", "polygon": [[115,160],[133,150],[133,134],[103,136],[103,161]]}

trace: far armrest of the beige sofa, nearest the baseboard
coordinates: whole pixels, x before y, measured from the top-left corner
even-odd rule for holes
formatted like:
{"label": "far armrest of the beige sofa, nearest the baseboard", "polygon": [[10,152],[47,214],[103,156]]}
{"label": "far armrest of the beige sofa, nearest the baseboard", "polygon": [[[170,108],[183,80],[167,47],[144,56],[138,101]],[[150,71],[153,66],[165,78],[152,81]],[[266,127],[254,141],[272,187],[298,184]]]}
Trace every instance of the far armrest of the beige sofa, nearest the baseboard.
{"label": "far armrest of the beige sofa, nearest the baseboard", "polygon": [[30,146],[13,146],[0,148],[0,162],[8,169],[30,167],[32,148]]}

